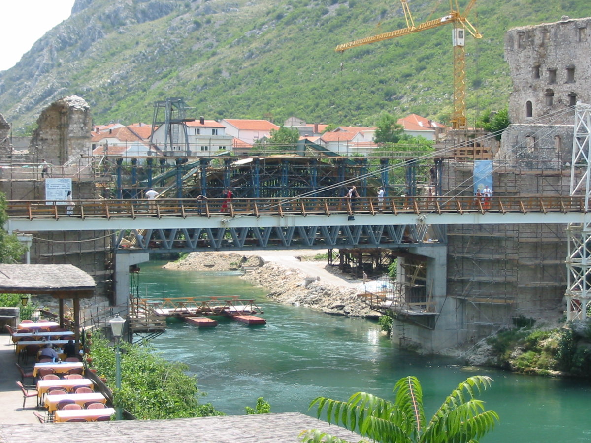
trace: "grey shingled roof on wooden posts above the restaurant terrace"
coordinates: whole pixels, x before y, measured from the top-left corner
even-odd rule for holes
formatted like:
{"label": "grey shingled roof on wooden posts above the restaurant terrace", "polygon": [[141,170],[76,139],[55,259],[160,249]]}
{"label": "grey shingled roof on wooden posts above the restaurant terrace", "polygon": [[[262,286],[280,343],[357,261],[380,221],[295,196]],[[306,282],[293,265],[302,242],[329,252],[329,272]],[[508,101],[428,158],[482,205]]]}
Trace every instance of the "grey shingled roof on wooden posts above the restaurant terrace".
{"label": "grey shingled roof on wooden posts above the restaurant terrace", "polygon": [[80,299],[95,294],[96,282],[73,265],[7,265],[0,263],[1,294],[47,294],[59,300],[64,325],[64,299],[71,298],[76,346],[80,340]]}

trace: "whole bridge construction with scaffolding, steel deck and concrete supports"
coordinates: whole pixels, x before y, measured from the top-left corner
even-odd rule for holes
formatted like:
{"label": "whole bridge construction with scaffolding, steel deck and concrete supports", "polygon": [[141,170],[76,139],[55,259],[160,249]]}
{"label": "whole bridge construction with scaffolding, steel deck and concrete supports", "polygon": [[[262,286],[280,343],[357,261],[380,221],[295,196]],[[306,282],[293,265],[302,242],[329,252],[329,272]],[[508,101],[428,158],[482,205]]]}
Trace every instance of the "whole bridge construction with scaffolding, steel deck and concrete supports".
{"label": "whole bridge construction with scaffolding, steel deck and concrete supports", "polygon": [[[574,128],[578,151],[557,147],[552,161],[528,146],[491,151],[489,159],[443,151],[381,159],[173,159],[164,170],[121,161],[74,180],[72,214],[63,202],[46,201],[41,180],[3,183],[12,187],[8,228],[29,235],[35,262],[76,263],[102,279],[115,304],[128,297],[130,266],[154,253],[383,249],[398,258],[407,303],[393,311],[405,325],[404,344],[436,351],[519,315],[586,316],[589,194],[580,184],[589,175],[574,153],[586,152],[589,128]],[[540,131],[538,142],[553,138]],[[474,195],[480,161],[491,165],[494,194],[486,202]],[[148,183],[160,193],[155,201],[142,198]],[[360,197],[350,201],[345,192],[353,184]],[[380,185],[387,191],[381,201]],[[222,197],[226,187],[236,198]],[[197,201],[199,195],[207,200]],[[408,309],[414,303],[422,308]]]}

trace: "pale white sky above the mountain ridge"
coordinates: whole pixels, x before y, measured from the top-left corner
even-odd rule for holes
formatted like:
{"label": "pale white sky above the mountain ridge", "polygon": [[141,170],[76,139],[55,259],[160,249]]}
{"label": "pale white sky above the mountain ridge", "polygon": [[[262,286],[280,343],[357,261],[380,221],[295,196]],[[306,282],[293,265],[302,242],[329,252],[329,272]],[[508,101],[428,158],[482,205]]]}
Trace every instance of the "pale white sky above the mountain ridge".
{"label": "pale white sky above the mountain ridge", "polygon": [[22,54],[55,25],[70,17],[74,0],[0,0],[0,71],[21,60]]}

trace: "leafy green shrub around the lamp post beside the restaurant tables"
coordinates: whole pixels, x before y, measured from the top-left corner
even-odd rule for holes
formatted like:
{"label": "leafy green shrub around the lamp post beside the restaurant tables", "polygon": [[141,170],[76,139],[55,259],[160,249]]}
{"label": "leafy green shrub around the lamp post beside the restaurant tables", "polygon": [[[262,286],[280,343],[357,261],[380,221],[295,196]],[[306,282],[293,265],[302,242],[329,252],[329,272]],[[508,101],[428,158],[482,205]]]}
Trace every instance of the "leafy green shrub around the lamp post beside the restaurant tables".
{"label": "leafy green shrub around the lamp post beside the restaurant tables", "polygon": [[[115,348],[93,334],[92,365],[115,386]],[[203,393],[187,366],[164,360],[150,346],[121,343],[121,390],[114,401],[138,419],[189,418],[224,415],[211,403],[200,404]]]}

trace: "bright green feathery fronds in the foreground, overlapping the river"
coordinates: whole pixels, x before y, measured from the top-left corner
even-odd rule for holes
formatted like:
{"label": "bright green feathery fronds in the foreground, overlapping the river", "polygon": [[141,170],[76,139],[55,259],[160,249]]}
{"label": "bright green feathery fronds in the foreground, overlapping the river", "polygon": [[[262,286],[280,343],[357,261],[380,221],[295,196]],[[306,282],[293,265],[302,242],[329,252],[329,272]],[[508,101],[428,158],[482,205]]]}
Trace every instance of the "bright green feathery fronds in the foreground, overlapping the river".
{"label": "bright green feathery fronds in the foreground, overlapping the river", "polygon": [[[388,443],[477,443],[492,431],[499,416],[485,410],[475,396],[491,385],[487,376],[472,376],[460,383],[426,421],[423,391],[416,377],[403,377],[394,386],[395,400],[390,402],[374,395],[357,392],[347,402],[318,397],[310,403],[317,406],[317,416],[326,413],[327,421],[342,425],[374,442]],[[345,442],[317,430],[304,431],[302,441]]]}

